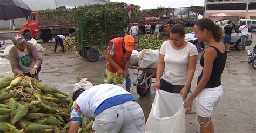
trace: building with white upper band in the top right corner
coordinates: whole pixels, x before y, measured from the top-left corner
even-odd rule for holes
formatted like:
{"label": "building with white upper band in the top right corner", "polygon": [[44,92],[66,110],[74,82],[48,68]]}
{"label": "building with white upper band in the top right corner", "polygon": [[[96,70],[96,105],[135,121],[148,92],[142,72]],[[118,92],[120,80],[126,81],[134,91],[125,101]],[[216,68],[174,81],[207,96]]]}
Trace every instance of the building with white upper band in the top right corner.
{"label": "building with white upper band in the top right corner", "polygon": [[[226,13],[227,16],[212,16],[216,13]],[[206,18],[217,19],[256,19],[256,0],[205,0]]]}

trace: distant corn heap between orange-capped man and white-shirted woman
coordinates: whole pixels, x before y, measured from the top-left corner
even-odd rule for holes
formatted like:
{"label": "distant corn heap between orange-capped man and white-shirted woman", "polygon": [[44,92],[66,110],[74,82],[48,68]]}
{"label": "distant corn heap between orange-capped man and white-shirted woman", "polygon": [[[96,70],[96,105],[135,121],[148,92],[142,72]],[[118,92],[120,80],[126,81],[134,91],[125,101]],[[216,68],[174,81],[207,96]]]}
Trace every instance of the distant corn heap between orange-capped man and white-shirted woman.
{"label": "distant corn heap between orange-capped man and white-shirted woman", "polygon": [[143,49],[160,49],[163,41],[151,34],[145,34],[139,37],[139,43]]}

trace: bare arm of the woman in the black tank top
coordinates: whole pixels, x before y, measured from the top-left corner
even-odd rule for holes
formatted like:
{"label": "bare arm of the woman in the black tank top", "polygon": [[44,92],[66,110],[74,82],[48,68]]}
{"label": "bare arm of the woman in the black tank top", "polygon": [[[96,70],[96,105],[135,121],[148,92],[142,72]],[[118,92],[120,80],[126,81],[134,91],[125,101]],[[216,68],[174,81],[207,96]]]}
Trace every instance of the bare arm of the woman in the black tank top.
{"label": "bare arm of the woman in the black tank top", "polygon": [[190,97],[188,97],[184,102],[184,107],[186,108],[186,112],[191,112],[193,100],[197,97],[197,95],[203,91],[204,87],[208,83],[211,77],[213,62],[217,57],[217,52],[214,48],[207,48],[204,53],[204,70],[203,70],[203,77],[201,78],[200,82],[198,83],[195,90],[192,92]]}

